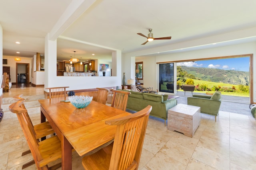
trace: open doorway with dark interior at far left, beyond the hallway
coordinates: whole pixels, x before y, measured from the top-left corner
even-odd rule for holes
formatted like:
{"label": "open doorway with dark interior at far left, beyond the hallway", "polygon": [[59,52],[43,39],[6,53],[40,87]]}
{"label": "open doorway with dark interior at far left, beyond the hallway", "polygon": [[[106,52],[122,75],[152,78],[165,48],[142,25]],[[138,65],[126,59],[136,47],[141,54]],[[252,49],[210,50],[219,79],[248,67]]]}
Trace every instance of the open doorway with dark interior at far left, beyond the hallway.
{"label": "open doorway with dark interior at far left, beyond the hallway", "polygon": [[29,84],[29,63],[16,63],[16,84]]}

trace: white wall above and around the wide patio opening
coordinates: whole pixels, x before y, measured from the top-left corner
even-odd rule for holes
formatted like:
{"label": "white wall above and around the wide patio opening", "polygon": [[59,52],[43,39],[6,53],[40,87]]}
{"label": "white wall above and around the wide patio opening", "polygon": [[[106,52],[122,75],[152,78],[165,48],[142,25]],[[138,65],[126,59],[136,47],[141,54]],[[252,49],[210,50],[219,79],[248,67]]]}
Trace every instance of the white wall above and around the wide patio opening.
{"label": "white wall above and around the wide patio opening", "polygon": [[[188,51],[184,53],[173,53],[168,55],[158,55],[158,56],[140,56],[136,57],[136,62],[143,61],[143,82],[144,86],[152,86],[158,88],[158,62],[166,61],[180,61],[180,60],[193,60],[193,59],[204,59],[211,57],[224,57],[232,55],[244,55],[253,54],[253,99],[256,102],[256,42],[243,43],[237,45],[230,45],[225,47],[216,47],[211,49]],[[153,71],[152,71],[153,70]]]}

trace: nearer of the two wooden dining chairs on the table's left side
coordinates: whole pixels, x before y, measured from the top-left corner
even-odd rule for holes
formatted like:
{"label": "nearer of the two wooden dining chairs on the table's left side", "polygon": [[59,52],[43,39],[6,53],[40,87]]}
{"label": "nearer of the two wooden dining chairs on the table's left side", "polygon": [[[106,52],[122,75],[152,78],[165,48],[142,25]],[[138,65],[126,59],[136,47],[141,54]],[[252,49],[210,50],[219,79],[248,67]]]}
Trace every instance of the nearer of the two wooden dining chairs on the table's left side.
{"label": "nearer of the two wooden dining chairs on the table's left side", "polygon": [[19,100],[9,106],[12,113],[16,113],[20,126],[26,137],[28,146],[31,150],[34,162],[38,170],[58,169],[61,162],[48,167],[48,164],[61,158],[61,142],[57,136],[50,137],[39,142],[34,135],[34,129],[30,125],[27,117],[28,111],[23,106],[24,100]]}

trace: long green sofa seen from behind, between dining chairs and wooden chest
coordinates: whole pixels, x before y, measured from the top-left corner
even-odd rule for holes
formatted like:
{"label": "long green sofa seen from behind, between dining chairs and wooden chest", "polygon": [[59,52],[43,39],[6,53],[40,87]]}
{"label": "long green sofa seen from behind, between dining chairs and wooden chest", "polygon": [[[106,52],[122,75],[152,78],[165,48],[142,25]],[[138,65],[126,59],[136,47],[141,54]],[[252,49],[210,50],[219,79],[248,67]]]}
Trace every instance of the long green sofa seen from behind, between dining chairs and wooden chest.
{"label": "long green sofa seen from behind, between dining chairs and wooden chest", "polygon": [[126,109],[140,111],[148,105],[152,106],[150,115],[164,119],[165,125],[168,109],[176,106],[177,100],[175,98],[168,100],[168,95],[131,92],[128,97]]}

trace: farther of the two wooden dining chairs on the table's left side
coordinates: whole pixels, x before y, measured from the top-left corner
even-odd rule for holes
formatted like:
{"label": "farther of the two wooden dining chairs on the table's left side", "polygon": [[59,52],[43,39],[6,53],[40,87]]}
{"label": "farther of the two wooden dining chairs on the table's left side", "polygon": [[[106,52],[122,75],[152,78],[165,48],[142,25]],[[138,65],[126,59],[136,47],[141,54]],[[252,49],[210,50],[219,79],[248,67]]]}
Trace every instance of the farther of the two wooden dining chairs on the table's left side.
{"label": "farther of the two wooden dining chairs on the table's left side", "polygon": [[[13,99],[16,100],[16,101],[24,101],[25,100],[24,98],[22,98],[22,94],[14,96]],[[22,103],[20,107],[22,107],[23,109],[26,109],[24,103]],[[32,121],[31,121],[31,119],[28,115],[28,112],[25,112],[24,115],[27,117],[28,125],[31,127],[31,129],[33,131],[33,134],[34,134],[34,136],[36,137],[36,139],[38,141],[41,138],[42,138],[42,140],[44,140],[44,139],[46,139],[47,135],[51,135],[51,134],[54,133],[54,130],[52,129],[52,127],[51,127],[51,125],[48,121],[43,122],[43,123],[39,123],[37,125],[33,125]],[[24,156],[24,155],[29,154],[29,153],[31,153],[31,151],[26,150],[26,151],[22,152],[21,156]],[[22,169],[27,168],[28,166],[30,166],[32,164],[35,164],[34,160],[24,164],[22,166]]]}

